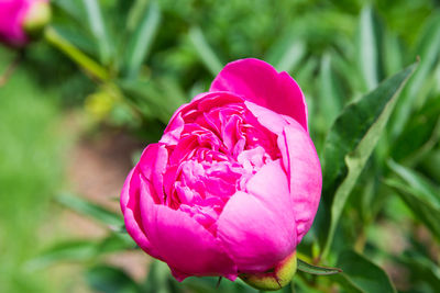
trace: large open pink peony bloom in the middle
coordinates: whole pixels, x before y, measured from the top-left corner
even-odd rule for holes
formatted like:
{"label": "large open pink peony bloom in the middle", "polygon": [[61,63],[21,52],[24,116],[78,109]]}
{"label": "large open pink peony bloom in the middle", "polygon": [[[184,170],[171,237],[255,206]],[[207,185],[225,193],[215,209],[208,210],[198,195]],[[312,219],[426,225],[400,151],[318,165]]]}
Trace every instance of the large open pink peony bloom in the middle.
{"label": "large open pink peony bloom in the middle", "polygon": [[177,280],[234,280],[274,270],[296,251],[320,193],[301,90],[288,74],[242,59],[144,149],[121,207],[131,237]]}

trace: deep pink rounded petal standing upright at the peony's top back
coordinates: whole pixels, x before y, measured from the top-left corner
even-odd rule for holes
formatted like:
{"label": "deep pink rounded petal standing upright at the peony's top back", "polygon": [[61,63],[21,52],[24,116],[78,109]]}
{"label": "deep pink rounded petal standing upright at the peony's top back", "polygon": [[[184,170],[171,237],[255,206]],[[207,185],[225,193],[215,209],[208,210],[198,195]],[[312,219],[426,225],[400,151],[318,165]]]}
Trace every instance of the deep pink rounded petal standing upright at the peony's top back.
{"label": "deep pink rounded petal standing upright at the peony's top back", "polygon": [[245,100],[292,116],[307,131],[307,105],[302,91],[285,71],[258,59],[228,64],[212,81],[210,91],[230,91]]}

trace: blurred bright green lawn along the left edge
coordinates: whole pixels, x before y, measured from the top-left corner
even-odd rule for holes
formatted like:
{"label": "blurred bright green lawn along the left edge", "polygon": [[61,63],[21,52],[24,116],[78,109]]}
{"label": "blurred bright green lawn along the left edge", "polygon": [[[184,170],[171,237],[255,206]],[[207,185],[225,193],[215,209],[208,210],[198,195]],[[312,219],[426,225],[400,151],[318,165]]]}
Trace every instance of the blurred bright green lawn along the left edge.
{"label": "blurred bright green lawn along the left edge", "polygon": [[[14,56],[0,49],[3,69]],[[41,226],[64,180],[58,101],[22,67],[0,88],[1,292],[56,292],[47,272],[26,272],[23,263],[47,244]]]}

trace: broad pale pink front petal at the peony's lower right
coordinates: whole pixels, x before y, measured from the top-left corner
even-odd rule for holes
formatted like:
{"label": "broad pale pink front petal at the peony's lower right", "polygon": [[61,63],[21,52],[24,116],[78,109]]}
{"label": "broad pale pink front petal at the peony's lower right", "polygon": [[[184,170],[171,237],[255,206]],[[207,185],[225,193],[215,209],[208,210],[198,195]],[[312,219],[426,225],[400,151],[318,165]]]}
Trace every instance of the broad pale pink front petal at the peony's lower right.
{"label": "broad pale pink front petal at the peony's lower right", "polygon": [[240,272],[273,268],[296,247],[288,179],[279,160],[264,166],[238,191],[218,219],[218,237]]}

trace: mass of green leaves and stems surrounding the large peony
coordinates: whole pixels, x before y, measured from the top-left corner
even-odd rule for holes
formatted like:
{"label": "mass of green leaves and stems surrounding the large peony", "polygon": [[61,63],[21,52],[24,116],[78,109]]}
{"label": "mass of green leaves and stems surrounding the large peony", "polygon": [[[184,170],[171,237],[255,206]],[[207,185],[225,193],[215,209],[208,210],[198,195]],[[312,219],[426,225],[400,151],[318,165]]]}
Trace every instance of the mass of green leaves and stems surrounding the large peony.
{"label": "mass of green leaves and stems surrounding the large peony", "polygon": [[[298,81],[324,168],[318,216],[298,251],[309,262],[345,272],[330,278],[299,272],[285,292],[440,291],[438,1],[54,0],[53,5],[47,43],[25,52],[26,75],[61,92],[65,105],[84,104],[98,122],[144,140],[156,140],[172,113],[206,91],[228,61],[265,59]],[[111,212],[70,195],[58,201],[112,222],[113,230],[100,241],[57,245],[35,266],[133,248],[114,230]],[[145,283],[107,264],[88,268],[86,280],[98,292],[253,292],[229,281],[217,289],[213,278],[178,284],[160,262]]]}

